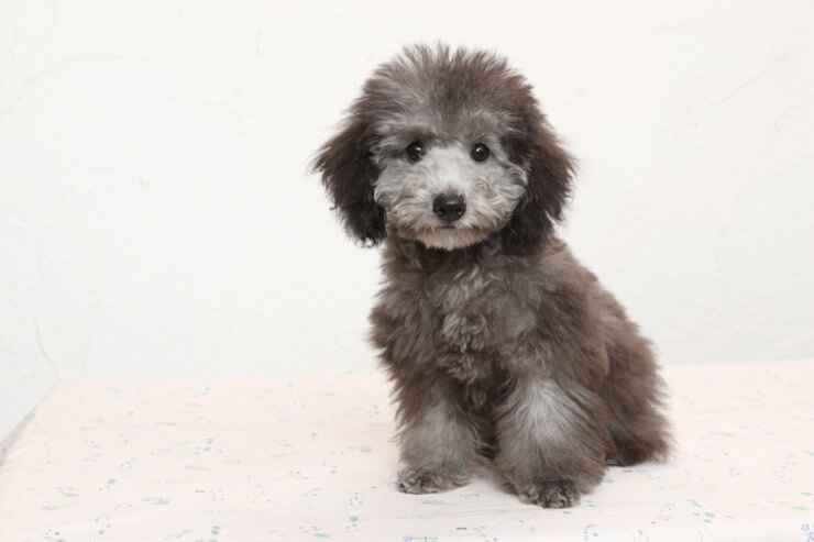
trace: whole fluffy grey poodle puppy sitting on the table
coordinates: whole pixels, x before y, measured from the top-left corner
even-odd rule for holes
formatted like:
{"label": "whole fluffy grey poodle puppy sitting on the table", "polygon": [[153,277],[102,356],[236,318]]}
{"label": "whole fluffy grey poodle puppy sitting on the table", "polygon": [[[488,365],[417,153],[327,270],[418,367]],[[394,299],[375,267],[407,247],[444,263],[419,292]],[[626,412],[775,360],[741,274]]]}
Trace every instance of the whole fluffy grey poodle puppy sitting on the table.
{"label": "whole fluffy grey poodle puppy sitting on the table", "polygon": [[371,321],[398,489],[454,488],[492,461],[522,500],[561,508],[607,465],[667,455],[649,342],[554,236],[573,162],[505,59],[406,48],[314,167],[348,232],[384,243]]}

